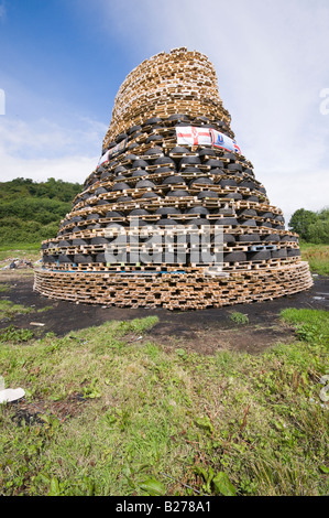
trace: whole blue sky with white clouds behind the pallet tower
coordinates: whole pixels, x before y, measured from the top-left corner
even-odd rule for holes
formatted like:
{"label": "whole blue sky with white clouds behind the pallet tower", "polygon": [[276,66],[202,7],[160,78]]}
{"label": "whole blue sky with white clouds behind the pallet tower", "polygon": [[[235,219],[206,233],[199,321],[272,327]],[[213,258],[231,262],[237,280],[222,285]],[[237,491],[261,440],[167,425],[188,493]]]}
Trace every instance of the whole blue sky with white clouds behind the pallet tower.
{"label": "whole blue sky with white clouds behind the pallet tower", "polygon": [[125,76],[177,46],[213,63],[271,203],[328,206],[328,0],[0,0],[0,181],[83,183]]}

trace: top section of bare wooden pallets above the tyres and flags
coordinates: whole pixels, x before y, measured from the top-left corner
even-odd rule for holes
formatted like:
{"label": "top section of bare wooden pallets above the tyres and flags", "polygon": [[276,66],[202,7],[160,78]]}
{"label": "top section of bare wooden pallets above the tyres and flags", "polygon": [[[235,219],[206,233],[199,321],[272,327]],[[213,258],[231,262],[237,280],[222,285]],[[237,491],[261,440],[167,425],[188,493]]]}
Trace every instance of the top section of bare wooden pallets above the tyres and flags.
{"label": "top section of bare wooden pallets above the tyres and flags", "polygon": [[199,52],[185,47],[161,53],[133,69],[121,85],[105,144],[147,119],[176,114],[211,117],[230,123],[219,97],[213,65]]}

